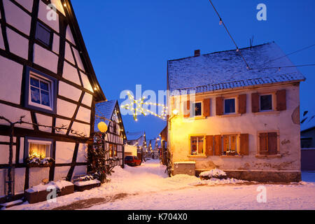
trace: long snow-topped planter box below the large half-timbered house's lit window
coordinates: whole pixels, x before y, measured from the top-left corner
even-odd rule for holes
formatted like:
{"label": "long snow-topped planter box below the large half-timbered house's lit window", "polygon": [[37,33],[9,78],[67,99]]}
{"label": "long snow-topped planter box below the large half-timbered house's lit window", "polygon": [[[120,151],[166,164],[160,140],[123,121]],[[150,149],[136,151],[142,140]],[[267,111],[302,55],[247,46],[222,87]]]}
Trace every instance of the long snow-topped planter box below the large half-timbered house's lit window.
{"label": "long snow-topped planter box below the large half-timbered house's lit window", "polygon": [[47,191],[48,187],[54,186],[57,188],[57,197],[69,195],[74,192],[73,183],[68,181],[57,181],[57,182],[49,182],[47,185],[40,184],[38,186],[34,186],[33,188],[29,188],[25,190],[25,199],[29,202],[29,204],[35,204],[38,202],[47,201],[48,194],[51,193],[51,190]]}

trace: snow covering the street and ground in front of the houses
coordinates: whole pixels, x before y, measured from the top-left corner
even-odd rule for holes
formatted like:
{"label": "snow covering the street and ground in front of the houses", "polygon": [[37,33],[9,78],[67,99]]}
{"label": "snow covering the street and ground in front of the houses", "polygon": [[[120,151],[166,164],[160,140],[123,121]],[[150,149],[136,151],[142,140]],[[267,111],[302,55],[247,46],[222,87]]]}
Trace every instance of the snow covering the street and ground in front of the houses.
{"label": "snow covering the street and ground in front of the houses", "polygon": [[259,183],[236,179],[201,181],[187,175],[168,178],[158,160],[140,167],[116,167],[114,171],[111,182],[100,188],[58,197],[57,203],[26,202],[10,209],[55,209],[81,200],[85,207],[73,204],[69,209],[315,209],[315,173],[304,173],[305,182],[301,183],[263,185],[267,202],[258,203]]}

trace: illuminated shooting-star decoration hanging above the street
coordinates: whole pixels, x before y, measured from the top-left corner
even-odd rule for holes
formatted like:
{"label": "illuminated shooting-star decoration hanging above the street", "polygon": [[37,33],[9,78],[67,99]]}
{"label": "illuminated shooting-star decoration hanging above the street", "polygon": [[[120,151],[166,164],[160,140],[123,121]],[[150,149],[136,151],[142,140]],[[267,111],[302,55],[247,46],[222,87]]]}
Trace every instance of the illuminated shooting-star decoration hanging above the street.
{"label": "illuminated shooting-star decoration hanging above the street", "polygon": [[[161,118],[162,120],[166,120],[166,116],[167,116],[167,106],[164,106],[162,104],[153,104],[153,103],[148,103],[148,102],[144,102],[144,100],[146,99],[146,97],[142,97],[142,99],[134,99],[134,96],[132,96],[132,94],[130,94],[130,92],[127,92],[129,100],[130,100],[130,104],[125,104],[122,105],[121,107],[123,109],[132,111],[132,114],[134,116],[134,120],[138,121],[137,116],[142,114],[144,116],[147,116],[148,114],[151,114],[155,117]],[[151,105],[151,106],[162,106],[162,114],[159,115],[157,113],[153,113],[152,111],[149,111],[148,109],[144,109],[143,106],[144,105]]]}

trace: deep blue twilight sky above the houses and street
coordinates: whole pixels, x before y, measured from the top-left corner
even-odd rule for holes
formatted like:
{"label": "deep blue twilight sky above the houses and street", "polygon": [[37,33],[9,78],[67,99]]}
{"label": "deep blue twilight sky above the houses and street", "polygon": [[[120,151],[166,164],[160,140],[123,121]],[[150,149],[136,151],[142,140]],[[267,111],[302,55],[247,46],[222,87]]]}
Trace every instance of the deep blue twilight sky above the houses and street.
{"label": "deep blue twilight sky above the houses and street", "polygon": [[[72,0],[94,70],[107,99],[122,90],[166,90],[167,60],[235,49],[208,0]],[[314,0],[213,0],[239,48],[275,41],[290,53],[315,43]],[[256,19],[265,3],[267,21]],[[290,59],[315,64],[315,46]],[[301,111],[315,112],[315,66],[302,67]],[[119,102],[123,102],[119,99]],[[155,138],[166,123],[152,116],[124,116],[125,129]]]}

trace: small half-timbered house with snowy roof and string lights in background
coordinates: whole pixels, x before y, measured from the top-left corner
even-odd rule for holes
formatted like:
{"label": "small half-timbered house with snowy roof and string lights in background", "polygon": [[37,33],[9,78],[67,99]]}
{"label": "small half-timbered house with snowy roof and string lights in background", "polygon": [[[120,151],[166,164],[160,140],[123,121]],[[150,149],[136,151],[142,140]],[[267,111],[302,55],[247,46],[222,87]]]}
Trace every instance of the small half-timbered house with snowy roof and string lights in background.
{"label": "small half-timbered house with snowy roof and string lights in background", "polygon": [[[104,133],[104,145],[106,153],[106,162],[112,165],[124,165],[124,139],[126,139],[123,118],[121,117],[119,104],[117,100],[97,103],[95,107],[94,132],[99,132],[97,124],[106,123],[108,129]],[[105,119],[104,119],[105,118]]]}

